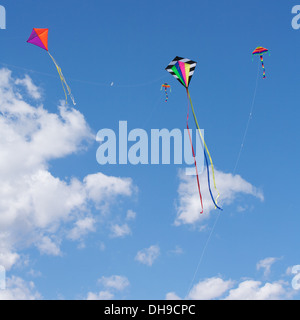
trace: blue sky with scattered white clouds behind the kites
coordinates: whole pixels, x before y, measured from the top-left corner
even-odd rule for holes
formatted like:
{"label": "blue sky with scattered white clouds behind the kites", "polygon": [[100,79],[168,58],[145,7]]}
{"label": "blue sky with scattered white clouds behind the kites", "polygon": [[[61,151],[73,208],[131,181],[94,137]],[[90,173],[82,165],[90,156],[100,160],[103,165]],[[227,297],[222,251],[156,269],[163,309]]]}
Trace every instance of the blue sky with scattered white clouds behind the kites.
{"label": "blue sky with scattered white clouds behind the kites", "polygon": [[[7,290],[0,298],[18,298],[17,292],[27,299],[300,297],[290,272],[300,264],[300,31],[291,26],[296,1],[0,4],[7,14],[7,29],[0,30],[0,102],[7,126],[1,133],[7,134],[1,147],[7,150],[0,163],[6,181],[1,198],[7,197],[5,186],[17,188],[9,198],[12,215],[5,201],[0,203],[0,264],[7,269]],[[64,95],[54,65],[46,52],[26,43],[34,27],[49,28],[49,51],[79,112],[59,109]],[[270,49],[266,80],[259,58],[252,61],[257,46]],[[190,93],[217,170],[221,214],[209,207],[198,216],[197,185],[182,174],[183,166],[100,166],[96,161],[98,130],[117,133],[119,121],[148,133],[185,129],[184,88],[164,70],[176,55],[198,62]],[[258,68],[254,114],[233,175]],[[167,104],[163,82],[172,86]],[[13,96],[7,98],[7,91]],[[16,109],[10,111],[7,101]],[[30,109],[22,112],[35,115],[23,114],[25,124],[18,109],[22,101]],[[73,120],[65,122],[68,117]],[[50,134],[45,123],[53,125]],[[22,136],[26,129],[33,138],[32,127],[43,138],[34,145],[39,150],[29,150]],[[9,140],[11,132],[17,140]],[[20,147],[11,157],[7,141]],[[49,154],[41,151],[47,148]],[[24,165],[27,157],[35,164],[30,168]],[[28,176],[41,189],[34,185],[26,193]],[[205,176],[201,186],[205,194]],[[26,200],[24,207],[20,199]],[[40,199],[39,205],[29,205],[32,199]],[[30,228],[23,232],[24,212]],[[122,234],[116,231],[121,229]],[[208,287],[211,296],[205,295]],[[264,295],[266,288],[270,292]]]}

